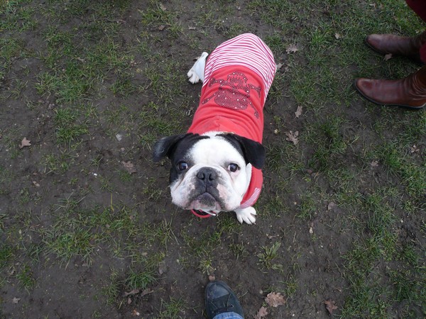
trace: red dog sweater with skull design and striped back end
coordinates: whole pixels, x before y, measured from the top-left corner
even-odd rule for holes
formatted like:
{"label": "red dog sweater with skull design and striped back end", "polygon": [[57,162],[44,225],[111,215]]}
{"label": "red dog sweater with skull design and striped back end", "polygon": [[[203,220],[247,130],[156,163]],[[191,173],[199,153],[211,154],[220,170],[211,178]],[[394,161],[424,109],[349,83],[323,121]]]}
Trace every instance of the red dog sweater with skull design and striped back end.
{"label": "red dog sweater with skull design and striped back end", "polygon": [[[204,69],[200,104],[188,133],[232,132],[256,142],[263,138],[263,105],[275,75],[269,47],[245,33],[219,45]],[[253,167],[249,189],[239,208],[256,203],[263,184]]]}

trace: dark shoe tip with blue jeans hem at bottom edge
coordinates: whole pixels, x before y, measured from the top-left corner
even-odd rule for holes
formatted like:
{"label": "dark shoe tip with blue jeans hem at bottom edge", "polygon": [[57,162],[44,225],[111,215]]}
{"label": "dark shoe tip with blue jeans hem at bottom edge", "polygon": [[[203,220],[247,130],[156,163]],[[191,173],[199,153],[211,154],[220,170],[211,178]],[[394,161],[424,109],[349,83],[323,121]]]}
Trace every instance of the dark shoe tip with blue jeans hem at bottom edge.
{"label": "dark shoe tip with blue jeans hem at bottom edge", "polygon": [[244,319],[235,293],[223,281],[211,281],[205,289],[205,306],[209,319]]}

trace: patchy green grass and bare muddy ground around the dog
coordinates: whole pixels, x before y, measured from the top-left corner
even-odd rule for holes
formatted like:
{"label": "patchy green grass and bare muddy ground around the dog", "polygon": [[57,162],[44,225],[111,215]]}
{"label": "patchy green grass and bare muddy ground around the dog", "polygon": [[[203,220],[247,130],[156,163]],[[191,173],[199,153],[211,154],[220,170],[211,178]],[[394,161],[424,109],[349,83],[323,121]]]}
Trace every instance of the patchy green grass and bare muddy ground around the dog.
{"label": "patchy green grass and bare muddy ground around the dog", "polygon": [[[87,318],[199,318],[208,275],[235,287],[249,315],[263,290],[287,298],[273,318],[324,298],[342,318],[424,317],[426,115],[352,87],[417,69],[369,50],[368,33],[422,30],[397,0],[1,1],[0,288],[21,302],[0,298],[0,317],[31,317],[31,296]],[[175,208],[168,162],[151,161],[158,138],[190,124],[192,59],[244,32],[283,64],[265,107],[254,227]],[[32,145],[20,149],[24,136]],[[58,288],[65,277],[79,284]],[[133,289],[153,293],[128,304]]]}

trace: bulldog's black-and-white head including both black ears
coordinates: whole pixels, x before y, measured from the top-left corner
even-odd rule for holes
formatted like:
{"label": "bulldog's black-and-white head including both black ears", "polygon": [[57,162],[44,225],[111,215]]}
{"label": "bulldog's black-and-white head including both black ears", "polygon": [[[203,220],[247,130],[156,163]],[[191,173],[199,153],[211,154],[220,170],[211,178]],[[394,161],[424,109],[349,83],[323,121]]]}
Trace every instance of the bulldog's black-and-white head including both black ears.
{"label": "bulldog's black-and-white head including both black ears", "polygon": [[169,157],[173,203],[184,209],[233,211],[250,183],[251,169],[261,169],[264,147],[231,133],[187,133],[159,140],[153,158]]}

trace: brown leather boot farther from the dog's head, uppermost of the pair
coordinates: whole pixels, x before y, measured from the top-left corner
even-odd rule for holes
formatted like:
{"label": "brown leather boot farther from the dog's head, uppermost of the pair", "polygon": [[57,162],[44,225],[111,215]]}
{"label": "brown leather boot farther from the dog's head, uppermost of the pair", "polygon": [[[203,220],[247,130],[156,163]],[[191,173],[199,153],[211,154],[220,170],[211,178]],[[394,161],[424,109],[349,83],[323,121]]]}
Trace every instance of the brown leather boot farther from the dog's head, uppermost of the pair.
{"label": "brown leather boot farther from the dog's head, uppermost of the pair", "polygon": [[386,55],[404,55],[417,63],[420,60],[420,47],[426,43],[426,31],[415,37],[400,37],[393,34],[371,34],[366,38],[366,44],[376,52]]}

